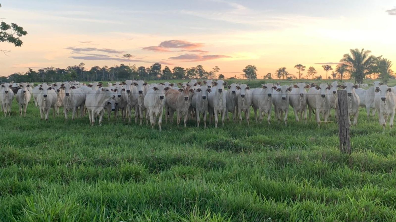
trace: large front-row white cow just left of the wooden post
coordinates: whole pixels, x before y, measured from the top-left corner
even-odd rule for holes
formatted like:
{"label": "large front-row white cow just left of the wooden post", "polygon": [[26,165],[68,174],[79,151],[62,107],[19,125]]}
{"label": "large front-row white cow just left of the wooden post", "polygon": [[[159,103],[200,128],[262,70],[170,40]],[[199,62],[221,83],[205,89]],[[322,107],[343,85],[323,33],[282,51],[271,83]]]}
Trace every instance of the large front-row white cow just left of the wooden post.
{"label": "large front-row white cow just left of the wooden post", "polygon": [[311,119],[312,109],[316,114],[316,122],[318,126],[320,126],[320,113],[324,113],[324,121],[327,122],[327,118],[329,117],[329,100],[326,99],[327,90],[331,87],[326,83],[321,83],[319,86],[311,87],[308,90],[308,112],[309,119]]}

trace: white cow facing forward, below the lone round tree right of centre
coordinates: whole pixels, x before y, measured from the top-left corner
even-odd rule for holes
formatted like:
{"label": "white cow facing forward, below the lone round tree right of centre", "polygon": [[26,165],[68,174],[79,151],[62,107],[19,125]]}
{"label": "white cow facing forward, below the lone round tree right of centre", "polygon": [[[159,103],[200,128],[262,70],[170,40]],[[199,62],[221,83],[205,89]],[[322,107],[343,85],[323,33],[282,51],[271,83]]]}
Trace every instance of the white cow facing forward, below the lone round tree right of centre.
{"label": "white cow facing forward, below the lone round tree right of centre", "polygon": [[250,106],[253,102],[253,95],[251,94],[250,87],[246,84],[240,84],[236,87],[238,91],[236,92],[236,100],[237,100],[237,107],[238,107],[238,117],[240,123],[242,123],[242,111],[245,112],[245,119],[247,125],[249,126],[250,123]]}

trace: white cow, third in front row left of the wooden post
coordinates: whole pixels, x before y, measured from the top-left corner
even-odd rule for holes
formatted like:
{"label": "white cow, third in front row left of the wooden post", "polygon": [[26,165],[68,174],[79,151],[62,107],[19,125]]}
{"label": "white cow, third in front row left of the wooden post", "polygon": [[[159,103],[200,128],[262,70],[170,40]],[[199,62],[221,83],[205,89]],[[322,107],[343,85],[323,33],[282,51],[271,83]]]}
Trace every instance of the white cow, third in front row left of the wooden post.
{"label": "white cow, third in front row left of the wooden post", "polygon": [[[274,93],[272,94],[272,103],[274,104],[275,117],[280,121],[284,120],[285,125],[287,126],[287,115],[289,113],[289,93],[291,88],[287,85],[283,85],[278,87]],[[285,113],[285,117],[283,118],[283,113]]]}

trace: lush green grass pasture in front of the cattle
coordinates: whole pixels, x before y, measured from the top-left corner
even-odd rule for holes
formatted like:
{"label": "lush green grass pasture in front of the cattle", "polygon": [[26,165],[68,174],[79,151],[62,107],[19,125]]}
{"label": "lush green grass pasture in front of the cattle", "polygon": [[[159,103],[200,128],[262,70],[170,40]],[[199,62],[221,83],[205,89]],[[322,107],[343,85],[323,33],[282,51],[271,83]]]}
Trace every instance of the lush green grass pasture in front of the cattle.
{"label": "lush green grass pasture in front of the cattle", "polygon": [[0,221],[395,220],[395,129],[360,109],[348,156],[335,122],[273,116],[159,132],[113,115],[42,121],[32,100],[23,118],[14,100],[0,115]]}

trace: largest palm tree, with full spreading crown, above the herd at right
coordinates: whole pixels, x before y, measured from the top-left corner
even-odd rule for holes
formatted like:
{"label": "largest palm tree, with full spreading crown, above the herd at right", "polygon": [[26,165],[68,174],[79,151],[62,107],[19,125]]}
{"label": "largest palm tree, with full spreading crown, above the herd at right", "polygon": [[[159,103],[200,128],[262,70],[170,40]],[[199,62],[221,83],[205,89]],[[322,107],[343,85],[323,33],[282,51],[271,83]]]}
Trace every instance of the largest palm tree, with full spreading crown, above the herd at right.
{"label": "largest palm tree, with full spreading crown, above the herd at right", "polygon": [[350,49],[350,54],[345,54],[340,60],[346,66],[346,70],[354,77],[359,84],[363,83],[366,75],[370,75],[376,71],[377,58],[370,55],[369,50]]}

